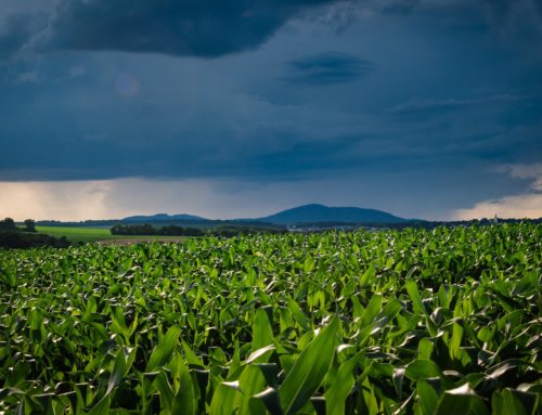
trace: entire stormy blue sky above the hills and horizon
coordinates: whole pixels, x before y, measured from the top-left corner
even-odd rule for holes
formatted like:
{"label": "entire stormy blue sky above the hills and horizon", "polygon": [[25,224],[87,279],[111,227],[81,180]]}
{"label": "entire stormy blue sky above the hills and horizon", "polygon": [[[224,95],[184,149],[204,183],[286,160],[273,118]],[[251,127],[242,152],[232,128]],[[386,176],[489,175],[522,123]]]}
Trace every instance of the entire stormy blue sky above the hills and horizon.
{"label": "entire stormy blue sky above the hills and horizon", "polygon": [[542,0],[0,0],[0,217],[542,217]]}

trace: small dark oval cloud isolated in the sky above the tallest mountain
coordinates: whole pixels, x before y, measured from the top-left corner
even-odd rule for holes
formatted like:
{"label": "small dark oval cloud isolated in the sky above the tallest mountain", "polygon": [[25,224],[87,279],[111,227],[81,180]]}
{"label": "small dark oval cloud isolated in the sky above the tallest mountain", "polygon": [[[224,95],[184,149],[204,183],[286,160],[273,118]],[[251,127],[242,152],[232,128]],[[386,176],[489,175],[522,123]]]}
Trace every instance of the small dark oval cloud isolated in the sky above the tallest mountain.
{"label": "small dark oval cloud isolated in the sky above the tallest mountain", "polygon": [[285,80],[318,86],[358,80],[371,73],[373,64],[352,54],[326,52],[292,61],[289,69]]}

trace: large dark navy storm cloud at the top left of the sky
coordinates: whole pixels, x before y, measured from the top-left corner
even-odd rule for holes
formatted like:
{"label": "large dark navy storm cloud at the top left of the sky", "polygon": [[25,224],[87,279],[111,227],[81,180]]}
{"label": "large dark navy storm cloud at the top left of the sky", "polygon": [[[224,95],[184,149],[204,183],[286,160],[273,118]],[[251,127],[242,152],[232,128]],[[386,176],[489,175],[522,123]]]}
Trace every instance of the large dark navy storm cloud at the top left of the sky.
{"label": "large dark navy storm cloud at the top left of the sky", "polygon": [[257,48],[332,0],[62,0],[38,46],[216,57]]}

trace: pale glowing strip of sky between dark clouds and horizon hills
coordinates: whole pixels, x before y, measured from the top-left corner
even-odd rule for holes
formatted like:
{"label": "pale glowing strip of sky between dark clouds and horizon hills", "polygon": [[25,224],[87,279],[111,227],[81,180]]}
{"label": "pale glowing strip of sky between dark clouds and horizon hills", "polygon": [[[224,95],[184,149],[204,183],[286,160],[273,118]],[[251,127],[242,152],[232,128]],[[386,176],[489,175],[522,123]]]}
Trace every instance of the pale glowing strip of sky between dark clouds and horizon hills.
{"label": "pale glowing strip of sky between dark clouds and horizon hills", "polygon": [[[320,184],[321,186],[322,184]],[[526,194],[498,200],[478,203],[473,207],[456,209],[448,217],[422,217],[402,213],[385,206],[364,206],[360,203],[336,204],[330,198],[305,199],[295,196],[287,186],[258,186],[245,190],[242,198],[229,194],[236,183],[203,180],[150,181],[141,179],[64,182],[0,182],[0,218],[13,218],[21,222],[35,220],[85,221],[122,219],[136,215],[194,215],[207,219],[259,218],[309,203],[326,206],[354,206],[373,208],[403,218],[425,220],[469,220],[493,218],[542,217],[542,195]],[[225,191],[220,191],[225,189]],[[273,205],[267,204],[266,193],[276,195]],[[141,198],[141,194],[147,197]],[[190,195],[183,197],[182,195]],[[245,200],[250,198],[253,204]],[[4,200],[11,200],[9,204]],[[292,202],[291,202],[292,200]]]}

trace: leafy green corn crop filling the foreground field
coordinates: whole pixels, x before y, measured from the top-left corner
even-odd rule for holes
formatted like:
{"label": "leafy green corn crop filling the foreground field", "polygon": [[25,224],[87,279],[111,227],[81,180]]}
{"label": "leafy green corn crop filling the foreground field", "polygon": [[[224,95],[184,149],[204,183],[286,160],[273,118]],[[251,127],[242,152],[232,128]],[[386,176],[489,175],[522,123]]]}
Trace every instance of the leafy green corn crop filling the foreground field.
{"label": "leafy green corn crop filling the foreground field", "polygon": [[0,250],[0,414],[539,414],[541,278],[529,223]]}

